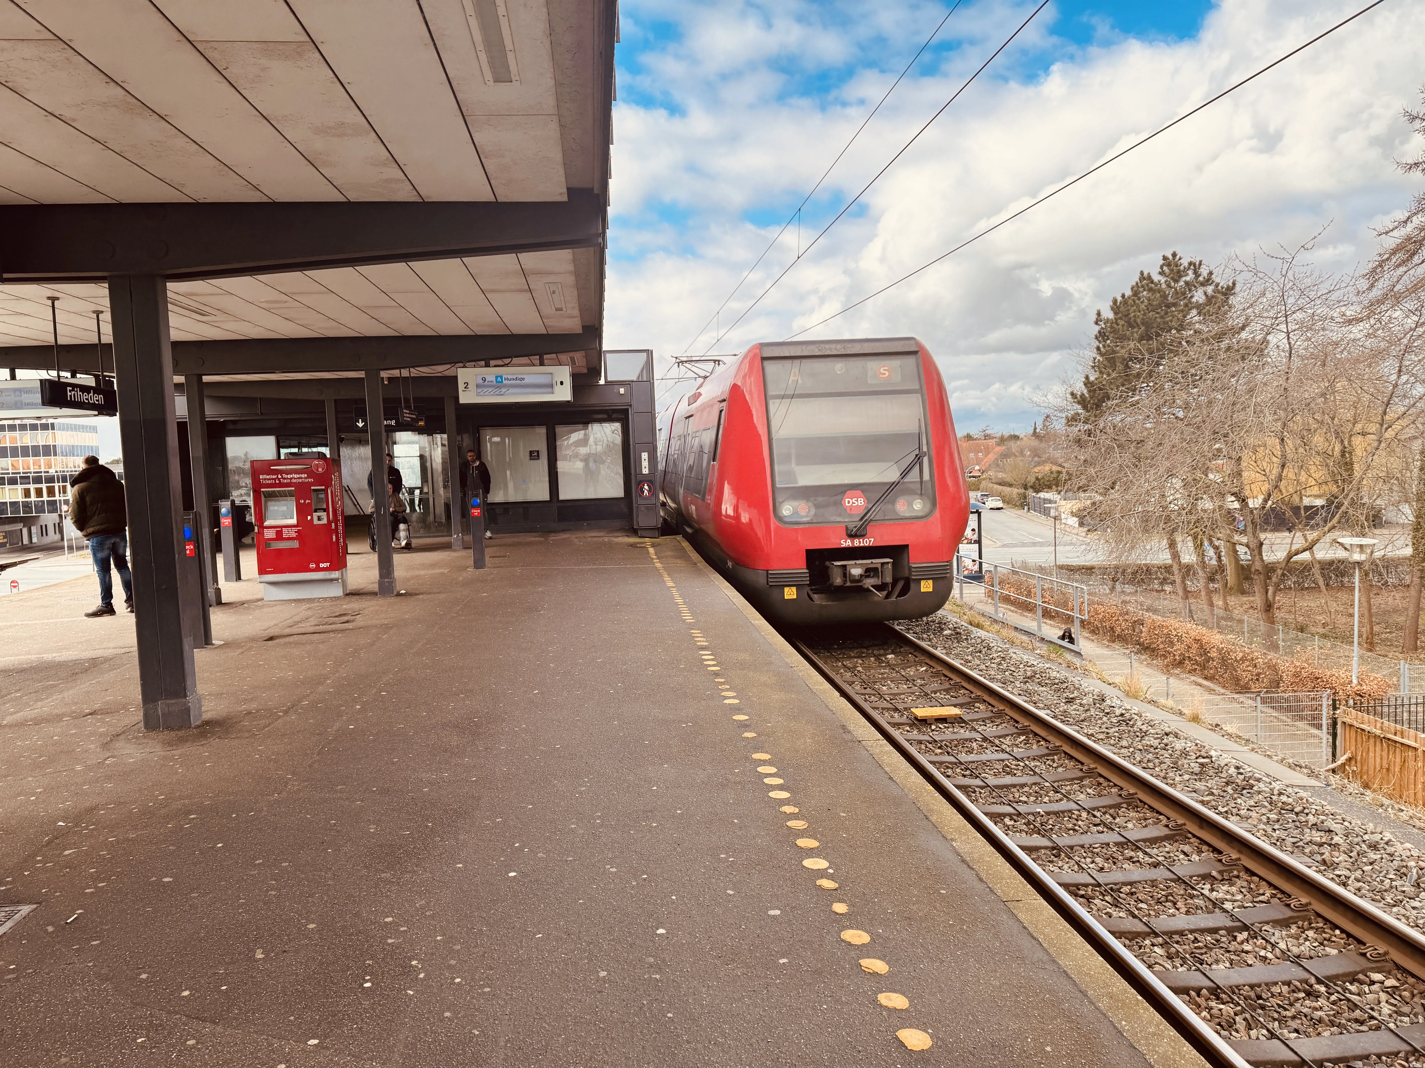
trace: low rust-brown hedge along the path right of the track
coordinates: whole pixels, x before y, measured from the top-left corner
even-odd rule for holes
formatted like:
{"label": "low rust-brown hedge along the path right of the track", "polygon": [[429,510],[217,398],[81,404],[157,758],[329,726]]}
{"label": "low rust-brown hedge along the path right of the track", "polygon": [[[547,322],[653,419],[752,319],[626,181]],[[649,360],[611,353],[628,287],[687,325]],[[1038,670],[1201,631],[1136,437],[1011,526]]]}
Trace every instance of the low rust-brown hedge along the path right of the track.
{"label": "low rust-brown hedge along the path right of the track", "polygon": [[[1033,584],[1022,578],[1002,577],[1000,591],[1030,602],[1035,597]],[[1046,617],[1053,602],[1046,591]],[[1059,604],[1064,609],[1070,607],[1064,597],[1059,598]],[[1330,689],[1341,699],[1362,701],[1391,692],[1391,681],[1384,675],[1361,675],[1361,681],[1352,685],[1349,671],[1321,668],[1310,654],[1278,656],[1187,619],[1166,619],[1112,601],[1090,602],[1084,629],[1119,645],[1143,649],[1164,668],[1196,675],[1238,693]]]}

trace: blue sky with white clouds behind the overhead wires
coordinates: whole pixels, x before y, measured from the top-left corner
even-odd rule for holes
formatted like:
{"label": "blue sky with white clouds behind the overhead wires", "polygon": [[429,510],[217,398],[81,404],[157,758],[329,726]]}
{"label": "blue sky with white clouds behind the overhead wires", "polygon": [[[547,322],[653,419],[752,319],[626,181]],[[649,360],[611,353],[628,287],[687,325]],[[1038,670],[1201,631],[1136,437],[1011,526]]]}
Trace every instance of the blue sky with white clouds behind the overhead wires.
{"label": "blue sky with white clouds behind the overhead wires", "polygon": [[[814,326],[1368,0],[1052,0],[807,249],[1037,7],[962,1],[720,312],[952,3],[623,0],[607,347],[651,347],[661,376],[681,355]],[[1425,85],[1421,40],[1425,0],[1387,0],[804,336],[915,335],[939,360],[962,433],[1027,430],[1046,393],[1082,373],[1094,310],[1166,252],[1221,265],[1320,232],[1318,266],[1368,261],[1372,226],[1418,187],[1395,159],[1425,148],[1401,117]]]}

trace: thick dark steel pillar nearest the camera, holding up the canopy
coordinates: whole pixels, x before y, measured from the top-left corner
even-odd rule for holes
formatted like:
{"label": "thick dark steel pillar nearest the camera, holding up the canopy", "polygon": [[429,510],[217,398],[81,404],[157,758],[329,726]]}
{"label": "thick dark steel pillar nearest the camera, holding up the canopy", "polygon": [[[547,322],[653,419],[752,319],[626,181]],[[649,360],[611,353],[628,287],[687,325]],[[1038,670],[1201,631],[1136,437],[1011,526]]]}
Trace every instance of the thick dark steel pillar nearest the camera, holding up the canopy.
{"label": "thick dark steel pillar nearest the camera, holding up the canopy", "polygon": [[182,618],[182,490],[167,289],[158,275],[108,279],[118,434],[133,538],[138,686],[147,731],[202,722],[192,639]]}

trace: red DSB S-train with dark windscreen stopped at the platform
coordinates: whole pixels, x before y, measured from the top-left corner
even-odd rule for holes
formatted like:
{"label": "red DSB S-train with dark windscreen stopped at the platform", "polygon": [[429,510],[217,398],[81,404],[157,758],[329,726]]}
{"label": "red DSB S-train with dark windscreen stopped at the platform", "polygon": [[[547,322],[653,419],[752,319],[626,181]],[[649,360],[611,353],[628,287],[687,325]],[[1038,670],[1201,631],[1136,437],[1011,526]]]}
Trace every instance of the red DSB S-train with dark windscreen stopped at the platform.
{"label": "red DSB S-train with dark windscreen stopped at the platform", "polygon": [[949,598],[969,493],[915,337],[754,345],[663,412],[658,449],[664,523],[774,622]]}

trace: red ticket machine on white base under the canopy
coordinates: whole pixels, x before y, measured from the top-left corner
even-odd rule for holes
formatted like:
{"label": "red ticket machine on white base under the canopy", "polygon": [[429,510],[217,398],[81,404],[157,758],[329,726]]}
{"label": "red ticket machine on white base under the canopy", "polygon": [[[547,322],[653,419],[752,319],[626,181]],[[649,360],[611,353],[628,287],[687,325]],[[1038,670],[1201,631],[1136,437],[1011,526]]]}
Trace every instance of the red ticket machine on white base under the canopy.
{"label": "red ticket machine on white base under the canopy", "polygon": [[252,521],[264,601],[346,592],[341,461],[254,460]]}

